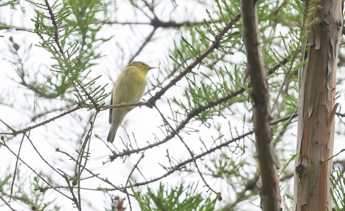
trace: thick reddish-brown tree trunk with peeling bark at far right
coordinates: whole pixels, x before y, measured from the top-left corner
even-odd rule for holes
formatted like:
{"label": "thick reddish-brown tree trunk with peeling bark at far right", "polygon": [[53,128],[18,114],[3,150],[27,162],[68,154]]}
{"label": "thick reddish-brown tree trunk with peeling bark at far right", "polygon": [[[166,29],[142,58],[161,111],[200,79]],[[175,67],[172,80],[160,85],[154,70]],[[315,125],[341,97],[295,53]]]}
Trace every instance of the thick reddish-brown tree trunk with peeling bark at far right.
{"label": "thick reddish-brown tree trunk with peeling bark at far right", "polygon": [[330,176],[333,160],[335,75],[343,28],[342,1],[306,1],[316,6],[307,30],[304,60],[298,73],[298,134],[294,176],[294,210],[332,210]]}

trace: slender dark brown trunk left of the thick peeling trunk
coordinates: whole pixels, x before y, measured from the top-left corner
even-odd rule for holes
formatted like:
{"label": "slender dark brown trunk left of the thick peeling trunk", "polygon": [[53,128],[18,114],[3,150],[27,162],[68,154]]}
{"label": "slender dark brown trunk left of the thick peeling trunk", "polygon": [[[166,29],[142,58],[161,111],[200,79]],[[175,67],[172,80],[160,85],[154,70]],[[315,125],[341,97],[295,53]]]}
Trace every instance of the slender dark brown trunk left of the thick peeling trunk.
{"label": "slender dark brown trunk left of the thick peeling trunk", "polygon": [[280,211],[280,190],[277,169],[279,161],[274,152],[270,127],[272,110],[269,104],[267,71],[264,68],[259,42],[256,0],[242,0],[243,38],[247,56],[246,74],[250,76],[250,96],[253,104],[253,125],[261,179],[261,209]]}

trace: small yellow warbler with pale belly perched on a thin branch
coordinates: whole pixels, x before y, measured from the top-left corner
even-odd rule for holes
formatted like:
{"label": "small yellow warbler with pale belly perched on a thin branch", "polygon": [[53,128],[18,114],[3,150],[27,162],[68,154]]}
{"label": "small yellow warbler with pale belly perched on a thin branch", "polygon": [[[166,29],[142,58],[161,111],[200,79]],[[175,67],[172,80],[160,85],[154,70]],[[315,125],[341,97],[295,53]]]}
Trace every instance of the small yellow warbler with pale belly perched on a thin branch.
{"label": "small yellow warbler with pale belly perched on a thin branch", "polygon": [[[146,88],[146,74],[154,67],[144,62],[131,62],[121,70],[112,90],[110,105],[137,103],[141,100]],[[117,129],[120,127],[126,114],[134,107],[110,108],[110,130],[107,141],[114,142]]]}

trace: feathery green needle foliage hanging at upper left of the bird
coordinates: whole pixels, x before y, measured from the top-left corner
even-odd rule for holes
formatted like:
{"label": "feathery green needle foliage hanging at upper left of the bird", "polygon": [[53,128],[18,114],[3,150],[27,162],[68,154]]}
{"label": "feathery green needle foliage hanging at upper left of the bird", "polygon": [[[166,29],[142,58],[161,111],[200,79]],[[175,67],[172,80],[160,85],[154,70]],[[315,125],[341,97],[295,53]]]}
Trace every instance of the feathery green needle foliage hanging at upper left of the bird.
{"label": "feathery green needle foliage hanging at upper left of the bird", "polygon": [[[30,87],[41,98],[60,97],[72,102],[88,99],[93,106],[105,99],[108,94],[105,94],[104,86],[93,87],[100,76],[93,79],[88,77],[90,69],[97,64],[93,61],[101,57],[97,46],[109,40],[97,38],[104,23],[95,17],[106,11],[103,3],[97,0],[55,1],[50,7],[44,3],[28,2],[35,7],[36,17],[31,20],[36,28],[33,32],[41,38],[38,46],[49,52],[56,63],[51,65],[49,73],[43,75],[46,81],[24,83],[26,70],[18,68],[23,85]],[[12,53],[17,54],[15,50]],[[15,63],[20,63],[20,57],[16,58]]]}

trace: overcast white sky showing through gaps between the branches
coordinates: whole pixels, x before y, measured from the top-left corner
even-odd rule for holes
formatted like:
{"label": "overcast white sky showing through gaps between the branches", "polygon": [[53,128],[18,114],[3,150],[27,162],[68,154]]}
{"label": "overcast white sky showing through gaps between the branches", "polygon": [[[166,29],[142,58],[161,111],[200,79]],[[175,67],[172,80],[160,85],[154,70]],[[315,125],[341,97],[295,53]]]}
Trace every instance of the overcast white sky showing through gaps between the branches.
{"label": "overcast white sky showing through gaps between the branches", "polygon": [[[28,2],[20,1],[23,8],[26,10],[26,13],[22,13],[22,11],[18,8],[17,10],[10,10],[9,7],[4,7],[0,9],[0,22],[15,26],[15,27],[22,27],[33,29],[34,23],[30,20],[34,18],[34,11],[33,7],[30,6]],[[43,2],[43,1],[42,1]],[[52,3],[52,1],[50,1]],[[205,6],[195,3],[194,1],[183,1],[177,0],[177,7],[174,9],[173,4],[170,0],[164,0],[160,4],[158,4],[155,8],[157,16],[163,21],[169,21],[170,18],[176,22],[182,22],[185,20],[196,20],[202,21],[203,19],[207,19],[207,13],[205,9],[208,9],[213,13],[216,5],[215,3],[209,3],[209,7],[205,8]],[[212,2],[212,1],[208,1]],[[111,20],[117,20],[119,22],[149,22],[150,20],[141,12],[134,12],[132,7],[128,3],[128,1],[118,1],[117,3],[118,8],[116,13],[109,12],[112,14],[109,18]],[[146,12],[149,10],[146,8]],[[172,12],[171,12],[172,11]],[[102,18],[101,16],[99,18]],[[146,25],[134,25],[134,32],[128,26],[122,25],[106,25],[102,31],[98,34],[99,37],[108,38],[114,36],[110,41],[102,44],[98,51],[101,52],[104,56],[97,60],[98,65],[92,67],[91,76],[97,77],[102,75],[102,77],[97,81],[95,86],[101,85],[104,86],[106,83],[109,83],[106,87],[107,91],[111,91],[112,84],[116,80],[120,69],[126,66],[128,63],[131,55],[137,51],[140,47],[141,43],[145,40],[147,35],[151,32],[152,27]],[[37,119],[36,122],[30,122],[31,113],[28,115],[26,110],[23,110],[23,107],[26,107],[28,110],[32,110],[32,108],[36,107],[37,113],[44,111],[45,108],[59,108],[63,106],[65,103],[59,102],[59,100],[37,100],[31,92],[27,91],[23,88],[20,84],[16,81],[19,81],[18,76],[15,73],[15,69],[8,62],[9,57],[12,57],[11,53],[9,52],[9,44],[8,41],[9,37],[13,37],[13,41],[18,43],[20,49],[18,50],[18,54],[21,57],[28,56],[26,49],[30,44],[37,44],[40,39],[37,34],[24,32],[24,31],[1,31],[0,35],[3,35],[4,38],[0,38],[0,101],[8,103],[10,106],[0,105],[0,119],[4,122],[8,123],[15,129],[25,128],[29,125],[33,125],[35,123],[39,123],[43,120],[51,118],[60,112],[53,112],[47,115],[44,118]],[[150,66],[158,67],[153,69],[149,72],[148,78],[150,81],[155,81],[155,78],[161,77],[159,71],[162,71],[164,68],[164,63],[167,63],[169,54],[169,48],[172,48],[174,39],[179,39],[179,34],[176,30],[165,30],[165,29],[158,29],[153,37],[155,39],[154,42],[149,43],[143,50],[142,53],[135,60],[145,61]],[[124,49],[124,51],[120,51],[120,48]],[[33,46],[31,52],[29,53],[30,57],[28,61],[25,63],[24,69],[29,73],[40,72],[40,73],[49,73],[49,67],[54,61],[50,58],[50,54],[46,53],[42,48],[37,46]],[[237,57],[239,61],[245,59],[243,57]],[[38,78],[40,75],[37,76]],[[157,106],[163,111],[163,113],[168,117],[171,115],[170,109],[168,104],[166,103],[167,98],[174,97],[181,97],[183,96],[184,86],[186,86],[186,81],[182,80],[178,83],[178,86],[173,87],[170,89],[166,96],[161,100],[157,101]],[[148,88],[152,87],[150,83],[148,83]],[[337,88],[338,89],[338,88]],[[338,89],[343,91],[341,87]],[[154,94],[155,91],[152,91],[151,94]],[[143,99],[149,99],[150,95],[147,94],[143,97]],[[107,103],[110,101],[110,98],[107,99]],[[341,98],[337,99],[337,102],[343,103],[344,95],[341,95]],[[13,104],[13,106],[12,106]],[[173,105],[174,107],[174,105]],[[175,106],[176,107],[176,106]],[[212,123],[222,123],[228,124],[228,120],[231,121],[231,124],[240,131],[242,134],[242,127],[243,123],[241,121],[236,121],[236,119],[241,119],[242,114],[246,111],[245,108],[237,108],[238,112],[234,117],[229,119],[223,118],[216,118]],[[62,169],[63,171],[72,172],[74,168],[74,162],[68,160],[68,158],[55,151],[55,148],[59,148],[61,151],[69,152],[73,155],[76,155],[75,150],[78,149],[77,140],[75,131],[79,131],[79,133],[83,130],[84,125],[87,125],[89,120],[88,117],[90,115],[90,111],[86,109],[77,111],[78,115],[81,115],[81,119],[74,119],[73,117],[75,114],[66,115],[63,118],[57,119],[54,122],[50,122],[49,124],[45,125],[44,127],[39,127],[31,131],[30,138],[33,140],[35,146],[38,148],[38,151],[42,154],[42,156],[51,162],[54,167]],[[109,130],[108,124],[108,110],[100,112],[93,134],[97,134],[103,140],[106,140],[106,136]],[[249,117],[247,115],[247,117]],[[337,120],[338,121],[338,120]],[[30,122],[30,123],[29,123]],[[147,145],[147,141],[153,142],[155,135],[160,134],[159,138],[163,138],[164,135],[160,132],[159,127],[163,124],[158,112],[154,109],[149,109],[146,107],[142,108],[135,108],[132,110],[125,118],[123,122],[126,125],[126,130],[132,137],[132,132],[135,134],[137,144],[140,146]],[[200,125],[200,128],[203,129],[199,132],[199,134],[187,135],[182,134],[185,138],[185,141],[191,146],[192,150],[195,154],[200,152],[200,146],[198,144],[194,144],[198,141],[199,137],[203,137],[204,141],[209,140],[206,142],[208,145],[212,145],[211,141],[211,130],[205,129]],[[250,123],[245,125],[245,132],[247,132],[251,128]],[[295,127],[294,127],[295,128]],[[0,124],[0,129],[2,131],[7,130],[6,127]],[[227,138],[231,138],[231,135],[224,131]],[[286,135],[286,139],[290,140],[292,143],[296,142],[295,135],[296,133],[292,130],[291,135]],[[128,139],[124,129],[120,128],[118,130],[117,137],[115,139],[115,145],[118,150],[124,149],[123,144],[121,143],[121,138],[124,139],[124,142]],[[19,143],[22,136],[17,135],[13,140],[10,141],[11,148],[14,151],[18,151]],[[343,137],[337,137],[335,141],[335,153],[337,153],[338,149],[343,149],[344,144],[341,143]],[[250,143],[250,140],[248,140]],[[251,144],[248,144],[248,151],[253,151]],[[284,148],[279,146],[280,148]],[[123,160],[117,159],[114,162],[106,163],[102,165],[102,162],[106,162],[108,160],[108,156],[111,154],[111,151],[107,148],[107,145],[101,142],[99,139],[95,138],[94,136],[91,139],[90,145],[90,152],[91,152],[91,159],[88,161],[87,167],[94,172],[100,173],[100,176],[103,178],[108,178],[111,182],[116,185],[124,185],[126,183],[127,177],[129,172],[132,170],[133,165],[137,162],[140,157],[139,155],[131,155],[126,159],[125,162]],[[112,148],[114,149],[114,148]],[[188,151],[185,149],[184,145],[178,139],[171,140],[166,144],[163,144],[161,148],[154,149],[154,150],[147,150],[145,152],[144,159],[139,163],[139,169],[145,175],[146,179],[159,177],[160,175],[164,174],[166,171],[160,167],[160,164],[168,164],[168,159],[165,157],[166,149],[169,150],[169,153],[175,159],[189,159],[190,155]],[[286,153],[293,154],[295,151],[294,144],[287,145],[285,147]],[[217,153],[218,154],[218,153]],[[215,155],[214,153],[214,156]],[[246,155],[240,155],[245,157]],[[47,174],[52,173],[53,180],[57,183],[64,185],[62,178],[59,177],[56,173],[52,172],[52,170],[42,162],[40,157],[37,153],[33,150],[32,146],[30,145],[28,140],[23,142],[22,150],[20,153],[20,157],[26,161],[33,169],[36,171],[42,171]],[[7,172],[7,168],[11,171],[14,169],[14,163],[16,162],[15,157],[5,148],[0,147],[0,160],[6,161],[1,162],[0,164],[0,177]],[[7,162],[8,161],[8,162]],[[254,166],[256,165],[255,160],[248,160],[248,162],[252,162]],[[248,167],[252,168],[252,167]],[[21,164],[21,174],[27,178],[33,178],[34,175],[30,170],[24,167]],[[255,169],[253,169],[254,171]],[[140,173],[135,171],[132,175],[133,180],[143,181]],[[210,177],[205,177],[207,182],[213,187],[216,191],[222,191],[224,201],[227,199],[234,200],[235,195],[231,192],[228,187],[227,183],[220,179],[213,179],[211,180]],[[186,173],[181,175],[174,174],[174,176],[169,176],[167,179],[162,180],[162,183],[168,185],[176,185],[179,182],[184,182],[185,184],[191,182],[199,182],[199,190],[203,191],[205,194],[207,188],[203,187],[204,184],[200,180],[199,175],[192,174],[187,177]],[[158,182],[150,184],[151,188],[158,187]],[[293,183],[290,183],[290,187],[292,187]],[[81,182],[82,187],[86,188],[97,188],[97,187],[109,187],[101,182],[99,179],[88,179]],[[26,187],[27,191],[30,192],[30,187]],[[146,187],[140,187],[137,189],[138,191],[145,191]],[[115,195],[118,194],[122,198],[125,198],[125,194],[120,194],[120,192],[114,191]],[[104,194],[102,192],[97,191],[82,191],[83,198],[86,201],[83,203],[83,210],[103,210],[104,207]],[[59,205],[62,206],[62,210],[72,210],[72,203],[69,200],[65,200],[63,196],[54,193],[49,194],[45,200],[47,202],[49,200],[53,200],[58,197]],[[131,200],[132,204],[134,205],[134,210],[138,210],[136,202],[134,199]],[[259,205],[260,201],[257,199],[252,201],[253,204]],[[287,202],[290,204],[290,202]],[[2,203],[0,203],[2,204]],[[13,204],[13,207],[18,210],[23,210],[21,206],[16,203]],[[127,201],[126,201],[127,204]],[[248,205],[248,204],[247,204]],[[250,208],[249,208],[250,207]],[[7,207],[0,207],[1,210],[8,210]],[[251,210],[260,210],[260,208],[254,205],[248,205],[248,209]],[[129,208],[127,208],[129,210]]]}

